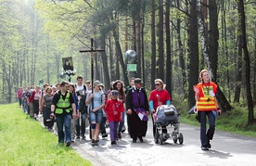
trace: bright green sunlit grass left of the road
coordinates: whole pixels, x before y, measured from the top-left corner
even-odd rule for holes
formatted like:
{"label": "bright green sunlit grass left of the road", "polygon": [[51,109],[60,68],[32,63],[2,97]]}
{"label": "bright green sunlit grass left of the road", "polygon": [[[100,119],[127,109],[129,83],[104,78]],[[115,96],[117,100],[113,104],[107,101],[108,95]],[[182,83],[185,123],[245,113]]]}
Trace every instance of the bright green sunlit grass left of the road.
{"label": "bright green sunlit grass left of the road", "polygon": [[91,165],[71,147],[21,111],[18,104],[0,106],[0,165]]}

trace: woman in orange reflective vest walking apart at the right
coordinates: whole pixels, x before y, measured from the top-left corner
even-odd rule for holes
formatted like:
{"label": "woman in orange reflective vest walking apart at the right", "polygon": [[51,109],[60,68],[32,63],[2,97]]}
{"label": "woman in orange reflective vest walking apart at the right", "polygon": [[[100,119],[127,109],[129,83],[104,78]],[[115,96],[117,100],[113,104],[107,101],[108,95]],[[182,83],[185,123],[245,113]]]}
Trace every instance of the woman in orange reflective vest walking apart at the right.
{"label": "woman in orange reflective vest walking apart at the right", "polygon": [[[201,83],[194,85],[195,97],[197,100],[198,121],[200,121],[201,149],[209,150],[215,131],[215,117],[221,114],[216,96],[217,84],[210,81],[208,70],[201,70],[199,73]],[[206,116],[209,121],[209,129],[206,131]]]}

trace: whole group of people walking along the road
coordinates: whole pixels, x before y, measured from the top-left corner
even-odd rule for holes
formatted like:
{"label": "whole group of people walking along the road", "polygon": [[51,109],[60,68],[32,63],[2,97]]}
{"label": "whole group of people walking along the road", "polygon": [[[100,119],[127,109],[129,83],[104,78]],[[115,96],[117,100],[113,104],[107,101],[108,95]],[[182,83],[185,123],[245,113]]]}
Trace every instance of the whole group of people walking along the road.
{"label": "whole group of people walking along the road", "polygon": [[[208,73],[207,70],[205,72]],[[214,134],[215,118],[210,109],[220,112],[215,99],[216,84],[210,82],[205,72],[200,73],[203,82],[194,87],[201,122],[200,138],[203,150],[211,148],[210,140]],[[117,140],[122,139],[125,115],[127,132],[132,142],[136,143],[137,139],[139,142],[144,142],[148,115],[151,114],[154,121],[156,109],[160,105],[171,104],[171,96],[164,89],[164,83],[160,79],[155,80],[156,88],[150,92],[149,97],[140,78],[131,78],[130,85],[126,88],[120,80],[112,82],[108,91],[104,90],[104,84],[99,81],[95,81],[92,85],[89,81],[83,84],[83,76],[78,76],[76,81],[75,84],[62,82],[53,86],[45,83],[42,90],[37,86],[35,90],[30,87],[21,93],[20,89],[17,92],[17,96],[21,96],[19,105],[22,105],[23,111],[28,112],[32,118],[36,119],[39,112],[43,112],[45,128],[52,130],[56,121],[58,143],[65,143],[67,147],[75,139],[85,138],[86,121],[89,123],[92,146],[98,146],[100,133],[102,137],[108,136],[106,121],[109,122],[110,144],[116,145]],[[205,89],[209,92],[206,93]],[[211,106],[205,107],[205,98],[210,98]],[[207,133],[206,116],[210,121],[210,129]],[[156,128],[153,127],[154,134],[155,130]],[[165,132],[167,131],[162,130],[162,133]]]}

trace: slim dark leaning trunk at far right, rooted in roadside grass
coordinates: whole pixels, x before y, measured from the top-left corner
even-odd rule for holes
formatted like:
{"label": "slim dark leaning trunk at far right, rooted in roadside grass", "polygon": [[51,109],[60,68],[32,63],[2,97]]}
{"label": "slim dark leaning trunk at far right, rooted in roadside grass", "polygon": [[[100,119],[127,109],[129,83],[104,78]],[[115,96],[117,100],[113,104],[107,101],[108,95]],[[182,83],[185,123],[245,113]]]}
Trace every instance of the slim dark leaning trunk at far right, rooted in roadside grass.
{"label": "slim dark leaning trunk at far right, rooted in roadside grass", "polygon": [[238,16],[241,24],[241,33],[242,33],[242,48],[244,50],[244,60],[245,60],[245,85],[246,85],[246,96],[247,96],[247,106],[248,106],[248,123],[252,124],[254,122],[253,115],[253,103],[252,96],[250,92],[250,57],[249,51],[247,47],[247,39],[246,39],[246,16],[244,10],[244,1],[238,1]]}

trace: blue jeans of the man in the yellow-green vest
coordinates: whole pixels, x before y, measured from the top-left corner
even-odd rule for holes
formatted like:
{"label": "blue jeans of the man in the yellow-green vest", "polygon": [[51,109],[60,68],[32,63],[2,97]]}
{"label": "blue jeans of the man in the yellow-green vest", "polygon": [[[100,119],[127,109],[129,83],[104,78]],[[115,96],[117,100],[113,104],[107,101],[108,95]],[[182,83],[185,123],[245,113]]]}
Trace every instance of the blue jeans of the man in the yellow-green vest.
{"label": "blue jeans of the man in the yellow-green vest", "polygon": [[63,124],[65,126],[65,142],[71,141],[71,115],[67,114],[65,116],[56,117],[57,127],[58,127],[58,143],[64,143],[64,131]]}

